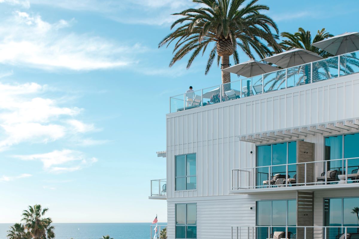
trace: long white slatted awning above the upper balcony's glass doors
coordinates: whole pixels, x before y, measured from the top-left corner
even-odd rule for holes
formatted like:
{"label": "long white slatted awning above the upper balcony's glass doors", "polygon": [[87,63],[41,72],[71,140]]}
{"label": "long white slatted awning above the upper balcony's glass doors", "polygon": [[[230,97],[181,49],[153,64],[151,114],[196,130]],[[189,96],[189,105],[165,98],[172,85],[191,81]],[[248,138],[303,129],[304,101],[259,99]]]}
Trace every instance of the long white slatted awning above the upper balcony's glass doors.
{"label": "long white slatted awning above the upper balcony's glass doors", "polygon": [[323,134],[323,132],[339,133],[342,130],[349,131],[351,128],[359,129],[359,119],[346,119],[294,128],[270,130],[255,134],[238,135],[237,137],[240,141],[244,142],[265,143],[270,140],[277,141],[291,138],[295,139],[299,138],[300,136],[307,136],[308,134],[316,135]]}

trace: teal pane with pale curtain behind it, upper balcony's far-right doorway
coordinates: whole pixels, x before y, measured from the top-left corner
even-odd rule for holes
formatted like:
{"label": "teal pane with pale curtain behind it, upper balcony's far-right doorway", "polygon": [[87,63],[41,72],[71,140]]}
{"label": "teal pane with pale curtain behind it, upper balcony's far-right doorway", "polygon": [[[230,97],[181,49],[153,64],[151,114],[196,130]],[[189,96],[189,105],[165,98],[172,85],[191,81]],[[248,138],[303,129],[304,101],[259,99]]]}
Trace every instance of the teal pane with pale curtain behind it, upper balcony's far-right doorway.
{"label": "teal pane with pale curtain behind it, upper balcony's far-right doorway", "polygon": [[[325,160],[340,159],[343,152],[343,136],[332,136],[325,138]],[[328,170],[342,170],[342,160],[328,162]]]}

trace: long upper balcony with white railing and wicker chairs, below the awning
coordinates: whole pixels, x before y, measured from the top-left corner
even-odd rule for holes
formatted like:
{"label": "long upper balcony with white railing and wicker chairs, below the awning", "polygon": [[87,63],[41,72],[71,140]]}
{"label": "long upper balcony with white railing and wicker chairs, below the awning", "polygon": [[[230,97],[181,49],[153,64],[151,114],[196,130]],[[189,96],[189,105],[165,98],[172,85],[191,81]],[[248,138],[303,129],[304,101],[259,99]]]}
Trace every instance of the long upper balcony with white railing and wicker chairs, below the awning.
{"label": "long upper balcony with white railing and wicker chairs, below the awning", "polygon": [[[359,158],[232,169],[230,193],[359,187]],[[269,180],[270,178],[270,180]]]}

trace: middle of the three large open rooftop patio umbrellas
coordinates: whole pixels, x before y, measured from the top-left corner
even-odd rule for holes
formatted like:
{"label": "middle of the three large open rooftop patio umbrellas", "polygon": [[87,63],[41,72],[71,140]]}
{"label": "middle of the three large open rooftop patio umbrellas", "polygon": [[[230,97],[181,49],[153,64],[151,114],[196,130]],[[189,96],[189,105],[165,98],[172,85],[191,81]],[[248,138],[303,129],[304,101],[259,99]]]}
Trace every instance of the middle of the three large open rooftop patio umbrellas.
{"label": "middle of the three large open rooftop patio umbrellas", "polygon": [[288,68],[312,61],[318,61],[320,59],[323,59],[323,57],[319,56],[317,53],[308,51],[306,49],[293,48],[288,51],[264,58],[263,61],[271,62],[283,68]]}

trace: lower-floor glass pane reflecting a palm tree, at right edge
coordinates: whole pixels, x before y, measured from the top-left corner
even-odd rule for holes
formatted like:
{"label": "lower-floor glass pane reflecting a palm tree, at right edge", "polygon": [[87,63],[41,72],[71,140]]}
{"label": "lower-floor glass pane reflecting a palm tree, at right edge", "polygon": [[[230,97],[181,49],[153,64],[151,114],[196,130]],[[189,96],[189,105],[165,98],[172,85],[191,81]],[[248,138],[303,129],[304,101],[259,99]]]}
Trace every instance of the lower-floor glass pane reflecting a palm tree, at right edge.
{"label": "lower-floor glass pane reflecting a palm tree, at right edge", "polygon": [[359,226],[359,197],[343,199],[343,209],[344,226]]}

